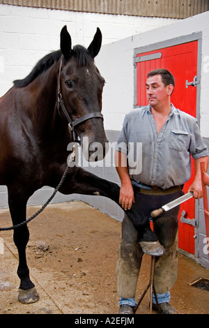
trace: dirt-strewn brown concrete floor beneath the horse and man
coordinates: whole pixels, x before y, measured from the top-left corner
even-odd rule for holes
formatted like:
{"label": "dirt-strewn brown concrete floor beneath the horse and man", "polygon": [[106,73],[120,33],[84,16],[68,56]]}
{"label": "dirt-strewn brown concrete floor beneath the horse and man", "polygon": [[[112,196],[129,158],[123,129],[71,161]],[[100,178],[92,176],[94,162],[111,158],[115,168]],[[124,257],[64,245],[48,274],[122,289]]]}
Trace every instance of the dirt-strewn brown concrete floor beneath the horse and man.
{"label": "dirt-strewn brown concrete floor beneath the horse and man", "polygon": [[[39,208],[28,207],[27,217]],[[8,209],[0,210],[0,223],[1,227],[11,225]],[[84,202],[65,202],[49,204],[28,226],[27,260],[40,300],[28,305],[17,301],[20,281],[13,232],[0,232],[0,314],[118,313],[115,269],[120,222]],[[149,275],[150,256],[144,255],[137,300]],[[179,255],[178,280],[171,291],[171,305],[178,313],[208,314],[208,290],[189,286],[201,277],[209,278],[209,271]],[[147,292],[137,314],[149,311]]]}

